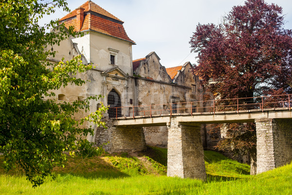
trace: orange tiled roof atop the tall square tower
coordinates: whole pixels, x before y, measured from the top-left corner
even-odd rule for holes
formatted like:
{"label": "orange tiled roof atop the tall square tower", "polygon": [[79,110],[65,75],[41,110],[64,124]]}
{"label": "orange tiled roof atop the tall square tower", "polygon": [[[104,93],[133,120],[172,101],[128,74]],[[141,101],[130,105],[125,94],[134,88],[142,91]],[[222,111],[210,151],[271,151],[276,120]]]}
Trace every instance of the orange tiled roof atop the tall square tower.
{"label": "orange tiled roof atop the tall square tower", "polygon": [[[99,7],[98,5],[96,5],[90,0],[84,3],[83,5],[81,5],[80,7],[85,9],[84,20],[83,20],[83,24],[80,31],[93,30],[93,31],[100,32],[106,35],[110,35],[112,37],[124,39],[132,43],[135,43],[133,40],[131,40],[128,37],[123,26],[123,23],[124,23],[123,21],[114,17],[109,12],[102,9],[101,7]],[[100,15],[94,15],[94,13],[92,12],[101,14],[106,17],[100,16]],[[110,20],[108,18],[114,19],[114,20]],[[77,29],[77,24],[76,24],[76,10],[74,10],[67,16],[60,19],[60,22],[61,23],[63,22],[67,28],[69,28],[69,26],[73,26],[74,30],[77,31],[78,29]]]}

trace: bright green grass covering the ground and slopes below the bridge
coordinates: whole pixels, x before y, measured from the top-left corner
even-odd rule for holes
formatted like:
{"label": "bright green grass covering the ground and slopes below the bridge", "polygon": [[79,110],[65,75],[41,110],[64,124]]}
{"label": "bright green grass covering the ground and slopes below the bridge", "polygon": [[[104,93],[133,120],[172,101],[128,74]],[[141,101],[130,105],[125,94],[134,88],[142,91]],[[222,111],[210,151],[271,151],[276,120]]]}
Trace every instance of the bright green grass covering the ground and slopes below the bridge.
{"label": "bright green grass covering the ground and slopes below the bridge", "polygon": [[[155,159],[162,149],[152,148],[150,157]],[[154,152],[153,152],[154,151]],[[157,153],[156,153],[156,152]],[[162,152],[162,153],[160,153]],[[181,179],[159,172],[146,154],[133,157],[93,156],[83,160],[70,158],[65,169],[55,169],[55,180],[32,188],[17,172],[4,174],[0,169],[0,192],[3,195],[288,195],[292,194],[292,164],[272,171],[249,176],[249,166],[235,162],[218,153],[205,151],[208,179]],[[155,157],[156,156],[156,157]],[[165,156],[158,157],[165,163]],[[162,163],[159,163],[163,166]],[[14,170],[15,171],[15,170]],[[161,174],[159,174],[161,173]]]}

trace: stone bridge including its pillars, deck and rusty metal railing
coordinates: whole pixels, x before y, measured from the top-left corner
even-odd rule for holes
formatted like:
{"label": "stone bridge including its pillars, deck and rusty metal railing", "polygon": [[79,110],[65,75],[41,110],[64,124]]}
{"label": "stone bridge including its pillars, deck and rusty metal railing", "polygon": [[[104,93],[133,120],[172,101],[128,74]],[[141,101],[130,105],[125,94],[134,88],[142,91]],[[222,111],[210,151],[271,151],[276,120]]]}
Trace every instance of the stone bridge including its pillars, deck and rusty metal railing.
{"label": "stone bridge including its pillars, deck and rusty metal railing", "polygon": [[[134,112],[132,115],[129,113],[131,117],[116,117],[112,121],[111,151],[141,151],[146,146],[142,127],[167,126],[167,176],[204,179],[206,172],[201,124],[255,122],[256,173],[269,171],[292,161],[290,97],[279,95],[183,102],[180,108],[170,104],[168,108],[171,109],[165,109],[165,104],[149,105],[147,109],[146,106],[137,106],[135,115]],[[154,109],[155,106],[158,109]],[[164,109],[160,109],[162,107]],[[172,109],[174,107],[178,110]],[[182,112],[178,112],[179,109]],[[134,106],[131,110],[135,110]],[[206,110],[211,112],[202,112]],[[143,116],[136,116],[137,113]]]}

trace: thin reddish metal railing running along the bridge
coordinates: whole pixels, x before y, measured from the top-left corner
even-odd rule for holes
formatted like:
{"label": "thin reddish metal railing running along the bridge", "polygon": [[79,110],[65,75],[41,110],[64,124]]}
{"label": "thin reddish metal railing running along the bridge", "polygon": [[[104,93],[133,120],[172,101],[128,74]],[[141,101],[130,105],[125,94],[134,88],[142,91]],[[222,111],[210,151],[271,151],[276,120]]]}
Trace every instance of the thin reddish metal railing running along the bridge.
{"label": "thin reddish metal railing running along the bridge", "polygon": [[203,112],[225,112],[240,110],[254,110],[258,109],[264,111],[265,108],[289,108],[291,110],[292,94],[275,95],[275,96],[261,96],[252,98],[233,98],[233,99],[214,99],[206,101],[192,101],[192,102],[178,102],[166,104],[153,104],[142,106],[125,106],[113,107],[115,109],[116,119],[119,108],[126,109],[129,117],[137,116],[172,116],[172,115],[193,115],[194,113]]}

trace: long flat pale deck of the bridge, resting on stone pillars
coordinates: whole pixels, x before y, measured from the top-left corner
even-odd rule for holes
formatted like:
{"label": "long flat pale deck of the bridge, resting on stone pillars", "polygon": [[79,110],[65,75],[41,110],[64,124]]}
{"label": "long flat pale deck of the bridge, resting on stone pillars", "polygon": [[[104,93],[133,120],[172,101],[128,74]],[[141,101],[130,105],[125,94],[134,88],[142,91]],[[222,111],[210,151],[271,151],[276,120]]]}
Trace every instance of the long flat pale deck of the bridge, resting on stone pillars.
{"label": "long flat pale deck of the bridge, resting on stone pillars", "polygon": [[195,125],[196,123],[234,123],[234,122],[254,122],[257,118],[292,118],[290,108],[266,108],[254,110],[205,112],[190,114],[172,114],[118,117],[114,120],[115,126],[166,126],[170,125],[171,117],[177,117],[181,125]]}

